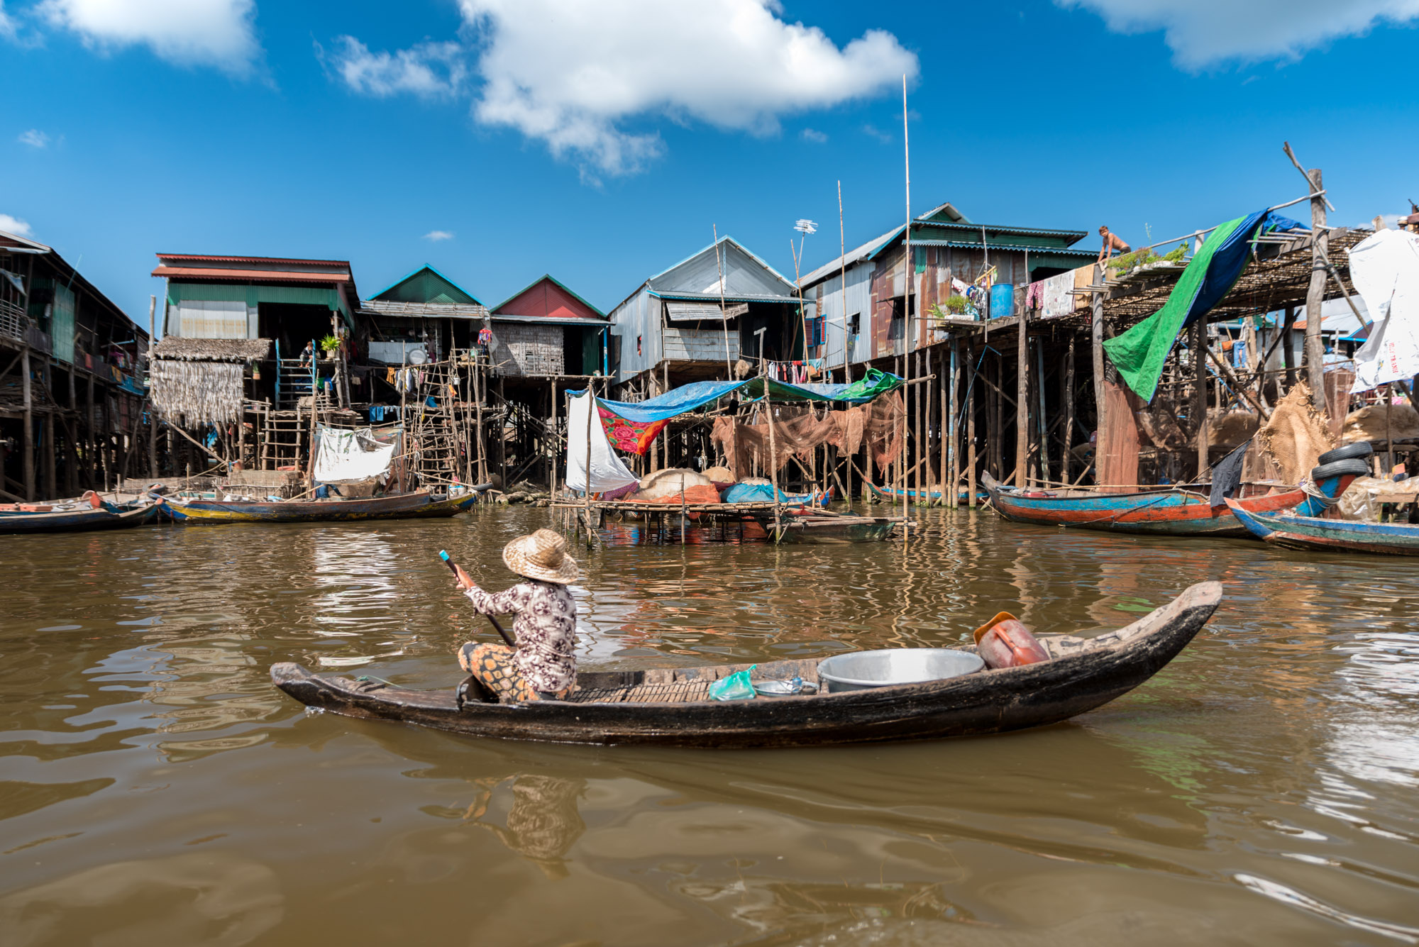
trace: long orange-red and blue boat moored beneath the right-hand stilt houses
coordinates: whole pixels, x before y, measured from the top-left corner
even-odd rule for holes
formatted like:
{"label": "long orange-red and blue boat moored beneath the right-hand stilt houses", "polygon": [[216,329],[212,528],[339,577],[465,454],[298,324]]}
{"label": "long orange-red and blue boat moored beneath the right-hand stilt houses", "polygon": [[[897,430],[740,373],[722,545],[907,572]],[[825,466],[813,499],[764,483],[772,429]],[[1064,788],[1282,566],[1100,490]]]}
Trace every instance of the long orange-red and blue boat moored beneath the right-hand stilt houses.
{"label": "long orange-red and blue boat moored beneath the right-hand stilt houses", "polygon": [[[1349,485],[1345,478],[1341,481],[1345,486]],[[1206,486],[1098,493],[1073,489],[1020,491],[999,483],[989,474],[983,474],[981,482],[990,493],[995,512],[1015,523],[1155,536],[1246,539],[1252,534],[1229,508],[1212,506]],[[1269,483],[1243,483],[1239,492],[1244,509],[1261,513],[1291,509],[1307,499],[1300,488],[1276,489]]]}

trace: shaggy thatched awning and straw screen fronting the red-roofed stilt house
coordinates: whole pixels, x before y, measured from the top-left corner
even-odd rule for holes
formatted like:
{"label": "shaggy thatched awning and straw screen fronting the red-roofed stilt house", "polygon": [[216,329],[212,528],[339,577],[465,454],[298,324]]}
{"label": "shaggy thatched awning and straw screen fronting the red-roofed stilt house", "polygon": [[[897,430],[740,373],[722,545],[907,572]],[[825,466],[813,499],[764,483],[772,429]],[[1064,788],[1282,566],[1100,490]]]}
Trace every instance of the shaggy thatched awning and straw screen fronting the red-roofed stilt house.
{"label": "shaggy thatched awning and straw screen fronting the red-roofed stilt house", "polygon": [[270,354],[270,339],[163,339],[152,350],[153,407],[184,427],[236,421],[247,363]]}

